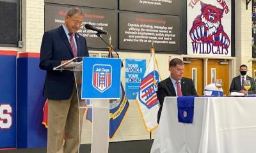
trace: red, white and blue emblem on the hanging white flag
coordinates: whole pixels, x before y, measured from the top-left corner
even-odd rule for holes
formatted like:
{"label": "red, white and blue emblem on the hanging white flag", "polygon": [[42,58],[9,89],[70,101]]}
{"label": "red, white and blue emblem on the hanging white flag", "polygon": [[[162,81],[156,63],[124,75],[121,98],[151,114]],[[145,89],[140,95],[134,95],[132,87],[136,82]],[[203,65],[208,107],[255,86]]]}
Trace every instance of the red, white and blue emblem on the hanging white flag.
{"label": "red, white and blue emblem on the hanging white flag", "polygon": [[[155,77],[154,77],[155,76]],[[152,71],[146,77],[141,80],[140,91],[138,92],[138,98],[143,105],[148,109],[158,104],[157,100],[157,82],[159,74],[157,71]],[[154,79],[156,84],[154,85]]]}

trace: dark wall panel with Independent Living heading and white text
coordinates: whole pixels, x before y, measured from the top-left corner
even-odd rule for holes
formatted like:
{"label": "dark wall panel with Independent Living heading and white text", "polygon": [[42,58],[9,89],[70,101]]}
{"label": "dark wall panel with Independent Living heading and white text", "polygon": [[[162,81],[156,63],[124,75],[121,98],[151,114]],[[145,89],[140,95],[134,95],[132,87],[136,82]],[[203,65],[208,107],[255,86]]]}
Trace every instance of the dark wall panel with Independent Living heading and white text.
{"label": "dark wall panel with Independent Living heading and white text", "polygon": [[179,52],[180,20],[170,15],[120,12],[119,48]]}

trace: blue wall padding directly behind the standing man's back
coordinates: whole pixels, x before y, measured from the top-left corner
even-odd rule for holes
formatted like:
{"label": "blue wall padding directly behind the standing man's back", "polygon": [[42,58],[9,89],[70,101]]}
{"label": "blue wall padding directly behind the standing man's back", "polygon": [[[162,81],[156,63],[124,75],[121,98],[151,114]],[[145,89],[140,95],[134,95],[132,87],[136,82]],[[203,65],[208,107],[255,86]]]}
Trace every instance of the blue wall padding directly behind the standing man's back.
{"label": "blue wall padding directly behind the standing man's back", "polygon": [[17,60],[17,148],[46,147],[47,129],[42,124],[45,71],[38,57]]}

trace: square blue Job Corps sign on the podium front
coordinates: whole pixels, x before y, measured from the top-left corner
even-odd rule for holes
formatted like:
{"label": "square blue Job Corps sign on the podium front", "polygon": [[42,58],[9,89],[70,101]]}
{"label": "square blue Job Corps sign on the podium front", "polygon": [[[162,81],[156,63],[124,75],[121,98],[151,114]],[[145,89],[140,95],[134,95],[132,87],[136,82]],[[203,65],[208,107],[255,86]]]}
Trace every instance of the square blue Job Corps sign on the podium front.
{"label": "square blue Job Corps sign on the podium front", "polygon": [[120,59],[83,57],[82,99],[119,99],[120,69]]}

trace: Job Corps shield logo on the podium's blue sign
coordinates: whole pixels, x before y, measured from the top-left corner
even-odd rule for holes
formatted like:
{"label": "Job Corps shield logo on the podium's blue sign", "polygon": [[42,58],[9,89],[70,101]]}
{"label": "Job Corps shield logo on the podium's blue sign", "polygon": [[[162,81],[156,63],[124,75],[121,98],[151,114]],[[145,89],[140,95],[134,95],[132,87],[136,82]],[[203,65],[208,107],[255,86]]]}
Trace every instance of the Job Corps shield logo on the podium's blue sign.
{"label": "Job Corps shield logo on the podium's blue sign", "polygon": [[112,67],[111,65],[95,64],[93,66],[93,87],[100,92],[104,92],[112,84]]}

